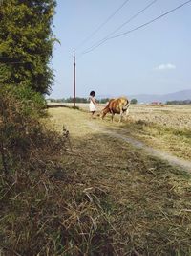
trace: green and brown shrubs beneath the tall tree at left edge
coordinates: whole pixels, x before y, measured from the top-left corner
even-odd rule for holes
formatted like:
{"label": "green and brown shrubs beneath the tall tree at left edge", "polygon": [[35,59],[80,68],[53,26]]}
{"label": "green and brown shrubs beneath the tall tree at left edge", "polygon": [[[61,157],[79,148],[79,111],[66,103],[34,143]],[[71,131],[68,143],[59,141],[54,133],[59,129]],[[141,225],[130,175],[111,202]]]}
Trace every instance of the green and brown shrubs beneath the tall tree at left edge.
{"label": "green and brown shrubs beneath the tall tree at left edge", "polygon": [[4,173],[11,172],[49,136],[40,124],[46,116],[45,106],[43,96],[29,87],[0,88],[0,166],[2,163]]}

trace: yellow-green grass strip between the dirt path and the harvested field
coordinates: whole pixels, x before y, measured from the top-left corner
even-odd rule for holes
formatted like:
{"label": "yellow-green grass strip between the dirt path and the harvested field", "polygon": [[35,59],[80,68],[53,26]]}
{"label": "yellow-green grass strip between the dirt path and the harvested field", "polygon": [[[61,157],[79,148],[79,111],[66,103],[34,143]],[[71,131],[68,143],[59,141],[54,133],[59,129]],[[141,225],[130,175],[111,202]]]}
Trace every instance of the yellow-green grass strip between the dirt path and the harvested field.
{"label": "yellow-green grass strip between the dirt path and the harvested field", "polygon": [[165,128],[154,123],[129,122],[125,126],[131,135],[146,144],[170,152],[182,159],[191,159],[191,130]]}

